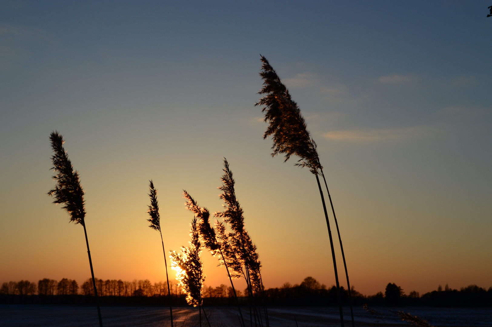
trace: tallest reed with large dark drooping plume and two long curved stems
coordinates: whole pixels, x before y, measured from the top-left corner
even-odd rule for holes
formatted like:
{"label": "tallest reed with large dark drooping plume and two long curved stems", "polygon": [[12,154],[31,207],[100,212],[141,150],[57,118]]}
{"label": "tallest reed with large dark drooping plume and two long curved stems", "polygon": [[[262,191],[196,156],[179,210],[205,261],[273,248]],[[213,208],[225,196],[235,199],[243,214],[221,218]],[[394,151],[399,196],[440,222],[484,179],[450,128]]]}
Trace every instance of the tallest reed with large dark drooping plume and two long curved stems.
{"label": "tallest reed with large dark drooping plume and two long curved stems", "polygon": [[324,179],[330,204],[332,207],[333,215],[335,218],[335,224],[337,225],[338,239],[340,242],[340,248],[342,252],[343,265],[345,267],[345,275],[347,277],[347,289],[350,299],[350,313],[352,316],[352,327],[354,327],[354,314],[352,308],[352,296],[350,291],[350,282],[348,280],[347,265],[345,263],[345,254],[343,253],[343,246],[341,242],[340,232],[338,230],[337,216],[335,215],[335,209],[333,208],[332,198],[326,178],[323,174],[323,167],[319,162],[318,152],[316,151],[316,143],[307,131],[306,121],[301,115],[297,103],[292,100],[288,89],[280,81],[277,72],[270,65],[268,60],[261,56],[262,71],[260,76],[263,79],[263,87],[258,92],[259,94],[266,94],[263,96],[255,106],[265,106],[262,108],[262,112],[265,114],[264,121],[269,125],[267,130],[263,134],[263,138],[272,137],[272,156],[277,154],[284,154],[284,162],[289,160],[292,155],[297,155],[300,159],[296,163],[296,166],[307,167],[309,171],[316,176],[318,183],[319,193],[321,195],[321,202],[323,204],[323,210],[325,213],[326,224],[328,227],[328,235],[330,237],[330,245],[333,257],[333,266],[335,270],[335,281],[337,284],[338,293],[338,306],[340,312],[340,323],[343,326],[343,313],[341,308],[340,287],[338,283],[338,271],[337,262],[335,259],[335,249],[333,246],[332,233],[330,229],[330,223],[328,221],[328,212],[326,210],[325,199],[321,184],[319,182],[318,175],[321,175]]}

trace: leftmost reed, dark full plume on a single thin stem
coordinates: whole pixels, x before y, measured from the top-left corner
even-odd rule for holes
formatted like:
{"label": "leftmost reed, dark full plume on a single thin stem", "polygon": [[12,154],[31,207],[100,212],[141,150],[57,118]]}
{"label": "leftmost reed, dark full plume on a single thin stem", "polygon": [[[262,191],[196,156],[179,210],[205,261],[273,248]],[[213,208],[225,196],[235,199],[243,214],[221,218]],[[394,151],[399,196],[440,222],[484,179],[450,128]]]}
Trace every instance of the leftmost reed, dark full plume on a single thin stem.
{"label": "leftmost reed, dark full plume on a single thin stem", "polygon": [[53,203],[62,204],[64,209],[70,215],[70,222],[75,224],[81,224],[84,227],[84,234],[86,236],[87,253],[89,255],[89,265],[91,266],[92,284],[94,287],[94,294],[97,305],[97,315],[99,317],[99,326],[102,327],[101,309],[99,307],[99,297],[97,296],[97,288],[95,286],[94,270],[92,269],[91,251],[89,250],[89,240],[87,238],[86,230],[86,209],[84,208],[84,190],[80,185],[79,172],[73,169],[68,154],[63,149],[63,136],[58,131],[53,131],[50,134],[51,148],[53,149],[53,156],[51,161],[53,162],[53,169],[55,176],[53,179],[56,181],[55,188],[48,192],[49,196],[55,198]]}

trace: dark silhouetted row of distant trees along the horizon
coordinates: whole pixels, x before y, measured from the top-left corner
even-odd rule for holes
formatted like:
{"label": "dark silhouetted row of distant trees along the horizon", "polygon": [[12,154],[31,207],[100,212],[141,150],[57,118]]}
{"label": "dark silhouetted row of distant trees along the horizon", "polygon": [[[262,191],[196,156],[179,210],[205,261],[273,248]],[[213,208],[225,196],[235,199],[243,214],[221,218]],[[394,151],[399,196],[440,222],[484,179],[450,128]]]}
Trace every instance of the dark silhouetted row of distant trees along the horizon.
{"label": "dark silhouetted row of distant trees along the horizon", "polygon": [[[98,279],[96,287],[98,295],[105,298],[125,297],[124,302],[115,302],[110,299],[105,304],[165,304],[168,303],[167,284],[165,282],[154,282],[150,280],[123,281],[121,279]],[[169,281],[171,297],[176,305],[186,305],[185,294],[178,283]],[[341,300],[344,305],[349,303],[348,291],[340,287]],[[203,285],[203,304],[205,305],[234,305],[235,295],[232,287],[221,284],[216,287]],[[236,295],[241,304],[247,304],[248,289],[244,293],[236,290]],[[63,278],[60,281],[44,278],[37,285],[28,280],[19,282],[4,282],[0,288],[1,303],[8,303],[7,296],[37,297],[42,299],[46,296],[77,296],[93,298],[94,291],[92,278],[88,278],[80,287],[77,281]],[[492,306],[492,287],[488,290],[477,285],[469,285],[458,289],[452,289],[446,285],[439,285],[437,290],[420,295],[419,292],[411,291],[405,294],[403,289],[395,283],[388,283],[384,292],[366,296],[351,287],[351,297],[354,305],[368,304],[370,306]],[[149,300],[135,301],[136,298],[154,298]],[[338,293],[335,285],[327,287],[320,284],[313,277],[306,277],[300,284],[284,283],[281,287],[265,289],[265,298],[269,305],[338,305]],[[70,300],[68,300],[70,302]],[[37,303],[35,300],[30,303]],[[77,302],[78,303],[78,302]]]}

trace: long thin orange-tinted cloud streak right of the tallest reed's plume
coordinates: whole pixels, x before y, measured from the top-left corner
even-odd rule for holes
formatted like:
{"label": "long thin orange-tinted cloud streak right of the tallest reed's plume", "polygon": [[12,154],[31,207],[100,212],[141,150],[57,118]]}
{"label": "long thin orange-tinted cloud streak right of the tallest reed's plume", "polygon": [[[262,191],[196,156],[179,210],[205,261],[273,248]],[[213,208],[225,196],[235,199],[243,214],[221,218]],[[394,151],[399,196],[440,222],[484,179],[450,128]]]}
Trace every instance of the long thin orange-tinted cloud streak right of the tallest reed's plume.
{"label": "long thin orange-tinted cloud streak right of the tallest reed's plume", "polygon": [[323,137],[334,141],[375,142],[425,138],[438,133],[441,133],[438,126],[421,125],[373,130],[338,130],[323,133]]}

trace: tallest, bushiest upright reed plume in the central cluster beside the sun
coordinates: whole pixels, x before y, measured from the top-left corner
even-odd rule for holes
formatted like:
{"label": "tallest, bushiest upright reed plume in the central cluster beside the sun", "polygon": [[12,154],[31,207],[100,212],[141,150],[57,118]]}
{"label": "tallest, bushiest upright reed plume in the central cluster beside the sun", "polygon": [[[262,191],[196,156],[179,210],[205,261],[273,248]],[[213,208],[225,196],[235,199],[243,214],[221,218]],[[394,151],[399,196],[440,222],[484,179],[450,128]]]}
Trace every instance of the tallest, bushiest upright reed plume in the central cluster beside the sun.
{"label": "tallest, bushiest upright reed plume in the central cluster beside the sun", "polygon": [[[223,253],[230,259],[230,262],[228,262],[229,267],[246,280],[248,297],[251,304],[253,295],[264,293],[260,272],[261,263],[258,260],[256,246],[245,229],[244,211],[236,198],[234,189],[235,181],[232,172],[229,169],[229,163],[225,158],[223,171],[224,175],[220,178],[222,180],[222,186],[218,187],[218,189],[222,191],[220,198],[225,203],[225,205],[223,205],[225,210],[222,212],[215,212],[215,217],[222,218],[224,223],[231,227],[232,232],[226,232],[225,227],[221,224],[216,225],[217,232],[222,243],[224,243],[222,249]],[[243,267],[245,268],[244,270]],[[266,306],[264,307],[264,312],[265,321],[268,327],[269,321]],[[257,316],[256,308],[254,308],[254,319],[255,324],[256,319],[258,319],[259,324],[262,326],[261,313]],[[250,324],[252,324],[252,319],[250,319]]]}

